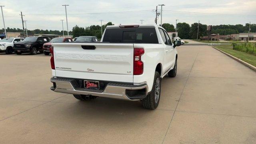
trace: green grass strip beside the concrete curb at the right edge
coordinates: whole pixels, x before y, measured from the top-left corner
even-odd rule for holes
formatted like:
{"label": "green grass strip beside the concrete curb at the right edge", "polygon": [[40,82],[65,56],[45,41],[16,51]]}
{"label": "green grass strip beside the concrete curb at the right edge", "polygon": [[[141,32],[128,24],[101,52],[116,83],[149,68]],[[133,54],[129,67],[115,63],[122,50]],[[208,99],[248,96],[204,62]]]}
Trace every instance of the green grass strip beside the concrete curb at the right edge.
{"label": "green grass strip beside the concrete curb at the right edge", "polygon": [[241,52],[238,50],[233,50],[231,45],[222,45],[222,46],[214,46],[215,48],[218,48],[236,58],[239,58],[240,60],[243,60],[253,66],[256,66],[256,56],[252,54],[247,54],[245,52]]}

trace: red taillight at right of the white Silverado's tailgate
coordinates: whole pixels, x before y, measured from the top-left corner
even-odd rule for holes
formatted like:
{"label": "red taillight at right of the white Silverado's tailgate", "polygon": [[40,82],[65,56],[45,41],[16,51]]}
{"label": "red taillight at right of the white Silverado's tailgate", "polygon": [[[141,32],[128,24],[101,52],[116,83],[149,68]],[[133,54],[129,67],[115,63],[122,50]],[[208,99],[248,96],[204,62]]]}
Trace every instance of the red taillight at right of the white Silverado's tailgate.
{"label": "red taillight at right of the white Silverado's tailgate", "polygon": [[134,48],[133,53],[133,75],[143,74],[143,62],[141,56],[144,54],[144,48]]}

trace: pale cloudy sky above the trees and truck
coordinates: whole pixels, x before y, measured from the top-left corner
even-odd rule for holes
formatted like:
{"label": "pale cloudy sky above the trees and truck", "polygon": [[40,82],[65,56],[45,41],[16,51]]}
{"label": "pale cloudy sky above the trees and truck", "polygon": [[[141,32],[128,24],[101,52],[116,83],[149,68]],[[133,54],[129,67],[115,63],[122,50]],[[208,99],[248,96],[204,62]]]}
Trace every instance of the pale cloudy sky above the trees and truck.
{"label": "pale cloudy sky above the trees and truck", "polygon": [[[6,28],[22,28],[20,12],[28,30],[67,30],[65,7],[68,4],[68,30],[107,22],[154,24],[156,6],[165,4],[162,23],[177,22],[207,25],[256,24],[256,0],[1,0]],[[160,12],[161,6],[158,6]],[[0,29],[4,28],[0,13]],[[160,24],[161,15],[158,17]]]}

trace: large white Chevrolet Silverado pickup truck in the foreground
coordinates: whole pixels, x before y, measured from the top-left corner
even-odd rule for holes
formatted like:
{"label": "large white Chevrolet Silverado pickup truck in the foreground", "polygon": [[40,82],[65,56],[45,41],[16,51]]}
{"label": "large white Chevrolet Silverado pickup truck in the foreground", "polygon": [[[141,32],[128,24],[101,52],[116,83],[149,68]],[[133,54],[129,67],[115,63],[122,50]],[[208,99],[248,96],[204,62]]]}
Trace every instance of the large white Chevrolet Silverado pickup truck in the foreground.
{"label": "large white Chevrolet Silverado pickup truck in the foreground", "polygon": [[50,89],[78,100],[141,100],[155,109],[161,78],[176,76],[180,45],[157,25],[107,26],[100,42],[53,43]]}

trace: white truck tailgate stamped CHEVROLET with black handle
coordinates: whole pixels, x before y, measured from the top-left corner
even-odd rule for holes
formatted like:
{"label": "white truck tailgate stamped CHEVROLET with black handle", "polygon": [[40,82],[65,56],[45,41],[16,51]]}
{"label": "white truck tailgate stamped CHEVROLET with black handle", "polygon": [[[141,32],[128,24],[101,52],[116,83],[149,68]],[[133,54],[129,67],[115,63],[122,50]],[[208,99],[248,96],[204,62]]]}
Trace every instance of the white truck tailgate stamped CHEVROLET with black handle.
{"label": "white truck tailgate stamped CHEVROLET with black handle", "polygon": [[53,43],[52,45],[57,77],[133,82],[133,44]]}

